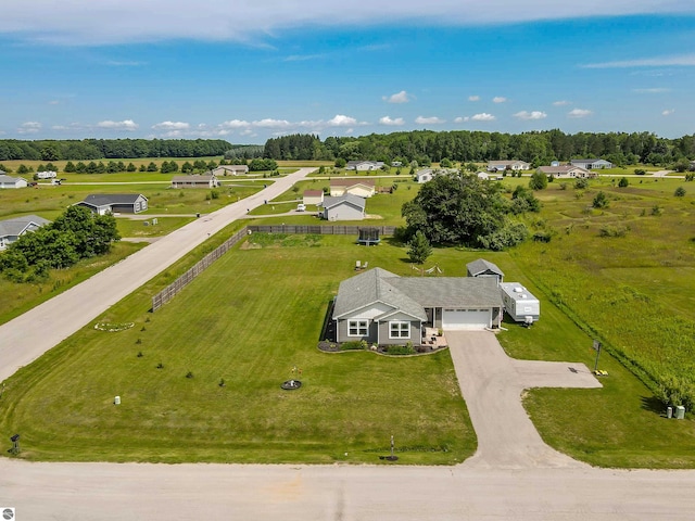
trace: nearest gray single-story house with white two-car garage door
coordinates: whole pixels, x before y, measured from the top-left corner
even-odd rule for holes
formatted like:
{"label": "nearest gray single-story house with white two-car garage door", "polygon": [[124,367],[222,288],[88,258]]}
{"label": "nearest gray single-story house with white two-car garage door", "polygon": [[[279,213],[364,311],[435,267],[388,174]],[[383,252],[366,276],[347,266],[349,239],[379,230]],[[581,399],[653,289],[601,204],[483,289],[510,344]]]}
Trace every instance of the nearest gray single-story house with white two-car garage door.
{"label": "nearest gray single-story house with white two-car garage door", "polygon": [[490,278],[399,277],[374,268],[340,283],[332,319],[337,342],[419,345],[426,327],[500,327],[502,306]]}

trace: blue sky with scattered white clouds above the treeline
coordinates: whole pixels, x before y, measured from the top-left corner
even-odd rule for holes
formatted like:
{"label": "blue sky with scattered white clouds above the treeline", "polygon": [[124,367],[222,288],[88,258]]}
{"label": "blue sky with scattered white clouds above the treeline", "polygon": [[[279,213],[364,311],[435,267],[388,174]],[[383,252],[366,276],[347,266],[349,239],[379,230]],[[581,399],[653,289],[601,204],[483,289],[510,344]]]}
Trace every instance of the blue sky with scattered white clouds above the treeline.
{"label": "blue sky with scattered white clouds above the treeline", "polygon": [[693,0],[7,1],[4,139],[695,132]]}

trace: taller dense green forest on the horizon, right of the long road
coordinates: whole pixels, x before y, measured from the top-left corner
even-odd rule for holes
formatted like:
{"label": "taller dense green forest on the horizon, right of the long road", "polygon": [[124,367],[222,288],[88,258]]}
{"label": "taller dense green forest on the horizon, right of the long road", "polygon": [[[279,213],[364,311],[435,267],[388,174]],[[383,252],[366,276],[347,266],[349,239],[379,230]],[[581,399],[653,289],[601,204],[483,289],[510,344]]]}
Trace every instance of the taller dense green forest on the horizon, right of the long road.
{"label": "taller dense green forest on the horizon, right of the long road", "polygon": [[695,135],[666,139],[649,132],[569,135],[560,130],[544,130],[514,135],[415,130],[328,137],[323,142],[317,136],[292,135],[268,139],[265,156],[274,160],[417,161],[419,165],[443,158],[460,162],[522,160],[536,166],[553,160],[603,157],[616,165],[666,165],[695,158]]}

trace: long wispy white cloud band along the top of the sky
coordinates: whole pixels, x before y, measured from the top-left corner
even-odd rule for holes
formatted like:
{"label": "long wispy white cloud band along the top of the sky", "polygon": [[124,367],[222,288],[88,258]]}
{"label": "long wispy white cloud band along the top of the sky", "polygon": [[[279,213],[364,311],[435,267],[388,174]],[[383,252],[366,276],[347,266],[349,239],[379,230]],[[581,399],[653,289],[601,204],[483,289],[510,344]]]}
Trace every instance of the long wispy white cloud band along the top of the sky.
{"label": "long wispy white cloud band along the top of the sky", "polygon": [[[376,21],[390,26],[418,21],[425,25],[471,26],[634,14],[693,14],[692,0],[583,0],[521,2],[510,0],[437,0],[421,2],[303,0],[240,1],[100,0],[85,10],[80,0],[5,1],[0,33],[25,40],[96,46],[162,40],[258,39],[288,27],[364,27]],[[243,24],[239,24],[242,20]],[[104,23],[108,21],[108,23]]]}

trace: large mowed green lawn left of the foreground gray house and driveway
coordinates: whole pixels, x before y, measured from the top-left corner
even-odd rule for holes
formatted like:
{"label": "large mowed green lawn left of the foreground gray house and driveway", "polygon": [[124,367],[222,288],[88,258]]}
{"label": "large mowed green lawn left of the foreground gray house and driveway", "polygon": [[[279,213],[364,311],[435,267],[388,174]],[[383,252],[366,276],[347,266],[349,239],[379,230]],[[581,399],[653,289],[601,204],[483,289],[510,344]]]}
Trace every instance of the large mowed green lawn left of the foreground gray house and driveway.
{"label": "large mowed green lawn left of the foreground gray house and driveway", "polygon": [[[143,288],[103,317],[135,327],[90,325],[7,381],[0,432],[45,460],[379,462],[391,435],[403,463],[464,460],[476,441],[448,352],[317,350],[356,258],[412,272],[403,247],[353,242],[237,247],[154,314]],[[444,253],[465,272],[460,252]],[[282,391],[293,377],[302,389]]]}

